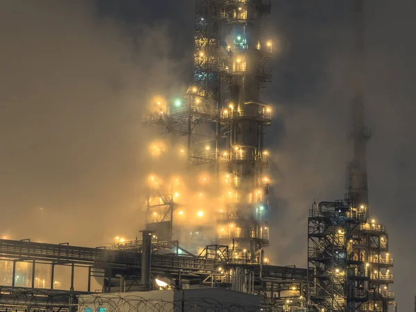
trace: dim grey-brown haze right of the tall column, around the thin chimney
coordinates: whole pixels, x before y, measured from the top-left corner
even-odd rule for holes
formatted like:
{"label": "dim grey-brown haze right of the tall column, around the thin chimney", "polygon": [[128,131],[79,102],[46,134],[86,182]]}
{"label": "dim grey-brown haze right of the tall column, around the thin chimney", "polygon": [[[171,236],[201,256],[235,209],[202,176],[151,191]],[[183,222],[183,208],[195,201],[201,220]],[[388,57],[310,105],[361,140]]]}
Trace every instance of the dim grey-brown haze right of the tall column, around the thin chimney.
{"label": "dim grey-brown haze right of the tall column, around the thin chimney", "polygon": [[[276,1],[268,33],[283,52],[267,96],[281,106],[268,133],[278,184],[270,259],[306,266],[307,210],[313,200],[343,199],[352,89],[354,31],[349,1]],[[388,227],[399,310],[413,309],[415,272],[413,105],[416,79],[414,1],[365,1],[365,105],[370,214]]]}

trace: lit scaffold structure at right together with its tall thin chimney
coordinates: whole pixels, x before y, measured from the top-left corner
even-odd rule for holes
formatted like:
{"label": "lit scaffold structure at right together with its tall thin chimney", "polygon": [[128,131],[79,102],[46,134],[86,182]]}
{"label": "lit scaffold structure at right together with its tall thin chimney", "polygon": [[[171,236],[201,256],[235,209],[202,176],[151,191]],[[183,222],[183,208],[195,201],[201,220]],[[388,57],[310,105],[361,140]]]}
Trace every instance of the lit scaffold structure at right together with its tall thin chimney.
{"label": "lit scaffold structure at right together with its tall thin chimney", "polygon": [[362,88],[363,3],[356,17],[356,96],[352,103],[354,161],[348,168],[345,200],[320,202],[309,212],[308,279],[311,311],[388,311],[393,266],[385,226],[368,209]]}

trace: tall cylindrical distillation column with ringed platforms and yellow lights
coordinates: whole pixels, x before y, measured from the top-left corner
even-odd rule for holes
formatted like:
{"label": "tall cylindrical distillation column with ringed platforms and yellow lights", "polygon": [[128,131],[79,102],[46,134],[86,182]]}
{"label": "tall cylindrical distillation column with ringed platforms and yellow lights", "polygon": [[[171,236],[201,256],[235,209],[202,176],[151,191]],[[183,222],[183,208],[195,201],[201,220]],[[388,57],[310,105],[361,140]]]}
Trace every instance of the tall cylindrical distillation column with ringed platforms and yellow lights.
{"label": "tall cylindrical distillation column with ringed platforms and yellow lights", "polygon": [[[260,19],[270,12],[270,1],[225,1],[223,42],[228,56],[222,88],[221,122],[226,137],[223,159],[233,188],[221,214],[220,243],[246,250],[254,259],[268,245],[268,183],[263,175],[268,155],[263,150],[264,128],[270,107],[260,101],[263,84],[270,81],[272,42],[261,37]],[[227,234],[222,235],[225,227]]]}

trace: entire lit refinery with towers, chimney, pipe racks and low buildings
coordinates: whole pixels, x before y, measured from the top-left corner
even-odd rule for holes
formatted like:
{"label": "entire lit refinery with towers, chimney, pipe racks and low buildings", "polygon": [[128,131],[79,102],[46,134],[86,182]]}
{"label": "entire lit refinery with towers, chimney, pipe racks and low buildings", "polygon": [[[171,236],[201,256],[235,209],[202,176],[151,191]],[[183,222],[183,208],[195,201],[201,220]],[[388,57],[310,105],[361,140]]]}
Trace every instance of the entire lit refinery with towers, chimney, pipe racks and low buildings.
{"label": "entire lit refinery with towers, chimney, pipe racks and low buildings", "polygon": [[143,117],[158,132],[146,149],[146,228],[98,248],[1,239],[3,311],[397,311],[388,232],[368,201],[363,1],[354,1],[347,194],[305,214],[306,268],[272,265],[264,253],[274,209],[273,107],[261,101],[272,79],[273,42],[261,29],[270,10],[270,0],[196,0],[193,80],[184,96],[155,97]]}

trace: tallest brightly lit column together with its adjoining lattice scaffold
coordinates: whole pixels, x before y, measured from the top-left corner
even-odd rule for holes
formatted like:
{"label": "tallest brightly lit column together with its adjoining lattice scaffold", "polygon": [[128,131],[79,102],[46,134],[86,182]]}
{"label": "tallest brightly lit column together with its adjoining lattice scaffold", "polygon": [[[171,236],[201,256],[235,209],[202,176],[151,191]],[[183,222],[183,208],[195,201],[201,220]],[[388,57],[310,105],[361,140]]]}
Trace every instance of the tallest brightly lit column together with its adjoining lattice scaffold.
{"label": "tallest brightly lit column together with its adjoining lattice scaffold", "polygon": [[[173,193],[149,196],[149,229],[159,238],[175,236],[193,251],[207,242],[229,245],[251,261],[256,255],[259,261],[262,247],[268,245],[268,152],[263,141],[271,108],[261,103],[260,90],[271,79],[272,42],[261,37],[259,26],[269,12],[270,0],[196,0],[193,83],[183,98],[165,106],[158,102],[145,121],[185,138],[177,149],[192,164],[202,165],[200,171],[194,169],[195,175],[209,172],[211,184],[217,185],[209,189],[209,198],[218,200],[214,207],[195,211],[200,204],[191,198],[199,189],[188,192],[187,199],[178,198],[177,205]],[[193,207],[191,213],[180,207],[181,200]],[[182,230],[186,235],[175,235],[183,226],[175,227],[173,207],[211,221],[195,227],[198,222],[188,219]],[[162,211],[155,214],[155,209]],[[155,220],[153,214],[165,218]],[[162,234],[169,231],[172,234]]]}

